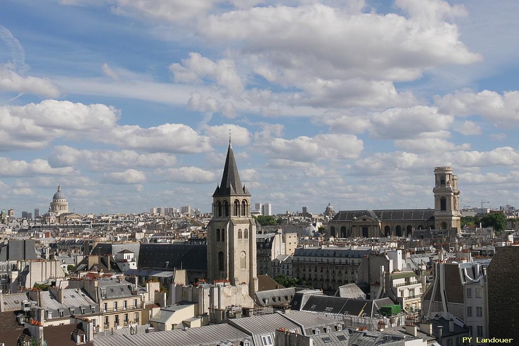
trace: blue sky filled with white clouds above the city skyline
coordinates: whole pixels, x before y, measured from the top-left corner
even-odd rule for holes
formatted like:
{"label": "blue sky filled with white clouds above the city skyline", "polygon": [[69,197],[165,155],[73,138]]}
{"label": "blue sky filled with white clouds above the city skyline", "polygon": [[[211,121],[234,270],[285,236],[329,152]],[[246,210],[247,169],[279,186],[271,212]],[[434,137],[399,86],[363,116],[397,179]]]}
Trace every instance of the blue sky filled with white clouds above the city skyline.
{"label": "blue sky filled with white clouds above the city skyline", "polygon": [[0,208],[517,205],[514,0],[3,0]]}

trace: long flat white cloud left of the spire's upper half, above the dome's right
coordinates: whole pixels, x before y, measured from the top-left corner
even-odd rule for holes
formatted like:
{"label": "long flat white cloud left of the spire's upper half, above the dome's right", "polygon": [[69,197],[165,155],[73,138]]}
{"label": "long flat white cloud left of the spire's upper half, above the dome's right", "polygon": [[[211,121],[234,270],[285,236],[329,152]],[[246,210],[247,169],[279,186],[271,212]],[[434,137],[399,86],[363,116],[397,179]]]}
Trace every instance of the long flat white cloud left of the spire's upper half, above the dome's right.
{"label": "long flat white cloud left of the spire's upper half, above the dome's right", "polygon": [[85,165],[92,171],[127,167],[172,167],[176,157],[170,154],[139,154],[133,150],[89,150],[66,145],[54,147],[49,156],[52,167]]}

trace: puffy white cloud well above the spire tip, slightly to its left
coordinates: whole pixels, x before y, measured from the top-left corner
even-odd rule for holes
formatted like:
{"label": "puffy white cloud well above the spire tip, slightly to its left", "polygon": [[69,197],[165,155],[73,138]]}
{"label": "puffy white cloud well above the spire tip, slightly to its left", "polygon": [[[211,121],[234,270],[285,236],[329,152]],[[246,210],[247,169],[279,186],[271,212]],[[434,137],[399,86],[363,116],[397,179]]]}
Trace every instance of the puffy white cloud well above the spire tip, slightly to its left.
{"label": "puffy white cloud well above the spire tip, slightly to its left", "polygon": [[235,95],[244,89],[234,61],[229,59],[214,62],[199,53],[189,53],[188,59],[182,60],[181,64],[171,64],[169,69],[176,82],[201,84],[204,79],[210,79]]}

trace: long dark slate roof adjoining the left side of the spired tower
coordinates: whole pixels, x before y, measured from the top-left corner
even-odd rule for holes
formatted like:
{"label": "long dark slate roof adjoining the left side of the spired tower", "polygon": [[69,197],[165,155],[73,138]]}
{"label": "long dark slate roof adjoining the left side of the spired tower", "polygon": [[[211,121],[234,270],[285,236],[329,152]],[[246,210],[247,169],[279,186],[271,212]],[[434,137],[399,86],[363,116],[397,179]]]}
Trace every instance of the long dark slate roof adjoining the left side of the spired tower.
{"label": "long dark slate roof adjoining the left side of the spired tower", "polygon": [[141,244],[137,266],[207,271],[207,244]]}

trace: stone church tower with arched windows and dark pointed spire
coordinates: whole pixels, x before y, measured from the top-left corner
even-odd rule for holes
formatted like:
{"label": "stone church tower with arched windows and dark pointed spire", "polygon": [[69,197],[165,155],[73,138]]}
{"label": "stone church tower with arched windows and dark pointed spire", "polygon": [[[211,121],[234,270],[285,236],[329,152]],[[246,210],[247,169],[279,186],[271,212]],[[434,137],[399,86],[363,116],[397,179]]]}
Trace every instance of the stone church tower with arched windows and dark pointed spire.
{"label": "stone church tower with arched windows and dark pointed spire", "polygon": [[233,147],[227,149],[224,173],[213,193],[213,218],[207,231],[208,280],[247,283],[254,299],[256,277],[256,220],[251,217],[251,194],[241,185]]}

